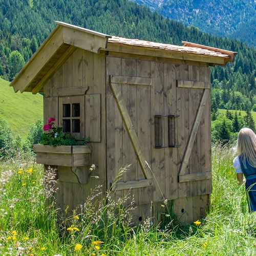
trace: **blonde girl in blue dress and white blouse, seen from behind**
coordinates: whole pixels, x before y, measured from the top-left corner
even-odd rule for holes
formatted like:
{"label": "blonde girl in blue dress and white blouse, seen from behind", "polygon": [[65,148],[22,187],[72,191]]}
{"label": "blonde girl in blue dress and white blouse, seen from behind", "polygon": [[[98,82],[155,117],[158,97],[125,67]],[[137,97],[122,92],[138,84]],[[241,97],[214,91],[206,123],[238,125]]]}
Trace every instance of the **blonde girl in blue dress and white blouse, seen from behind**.
{"label": "blonde girl in blue dress and white blouse, seen from behind", "polygon": [[236,152],[238,156],[233,160],[233,167],[240,185],[245,176],[249,212],[256,211],[256,135],[251,129],[240,130]]}

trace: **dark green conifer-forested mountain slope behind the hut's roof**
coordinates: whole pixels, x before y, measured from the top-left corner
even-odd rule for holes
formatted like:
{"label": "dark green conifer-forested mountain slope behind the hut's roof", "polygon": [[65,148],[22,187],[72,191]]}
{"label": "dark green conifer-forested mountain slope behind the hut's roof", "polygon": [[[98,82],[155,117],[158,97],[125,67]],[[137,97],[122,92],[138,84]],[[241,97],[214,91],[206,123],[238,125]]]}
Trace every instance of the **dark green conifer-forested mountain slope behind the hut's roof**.
{"label": "dark green conifer-forested mountain slope behind the hut's roof", "polygon": [[[41,44],[54,28],[54,20],[61,20],[128,38],[174,45],[181,45],[181,40],[185,40],[237,51],[234,63],[212,68],[215,104],[221,109],[241,110],[252,109],[256,104],[255,48],[238,40],[203,33],[193,26],[186,27],[128,0],[88,0],[84,3],[84,0],[0,0],[0,20],[3,20],[0,23],[0,76],[11,80],[17,71],[13,68],[22,66],[22,58],[29,59],[37,44]],[[161,6],[164,2],[152,3]],[[12,65],[16,60],[19,65]]]}

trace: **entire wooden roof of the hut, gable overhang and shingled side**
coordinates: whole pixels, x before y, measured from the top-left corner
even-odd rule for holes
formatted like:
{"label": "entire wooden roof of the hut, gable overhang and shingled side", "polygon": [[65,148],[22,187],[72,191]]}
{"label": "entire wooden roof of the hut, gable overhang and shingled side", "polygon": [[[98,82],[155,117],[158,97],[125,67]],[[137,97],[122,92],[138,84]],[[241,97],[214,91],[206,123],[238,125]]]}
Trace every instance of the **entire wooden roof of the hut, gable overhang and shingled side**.
{"label": "entire wooden roof of the hut, gable overhang and shingled side", "polygon": [[63,22],[55,23],[57,26],[10,83],[15,92],[27,91],[36,94],[42,91],[47,81],[76,48],[94,53],[109,51],[222,66],[228,61],[233,61],[236,54],[235,52],[185,41],[182,41],[182,47],[172,46],[138,39],[112,37]]}

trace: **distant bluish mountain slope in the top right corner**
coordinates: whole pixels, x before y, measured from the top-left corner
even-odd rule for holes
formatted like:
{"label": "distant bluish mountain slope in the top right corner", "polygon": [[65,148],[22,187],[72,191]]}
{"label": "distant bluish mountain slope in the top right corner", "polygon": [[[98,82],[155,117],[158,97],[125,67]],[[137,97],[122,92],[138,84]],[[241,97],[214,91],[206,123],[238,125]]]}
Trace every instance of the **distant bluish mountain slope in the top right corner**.
{"label": "distant bluish mountain slope in the top right corner", "polygon": [[[132,0],[202,31],[255,46],[254,0]],[[239,31],[243,33],[239,33]]]}

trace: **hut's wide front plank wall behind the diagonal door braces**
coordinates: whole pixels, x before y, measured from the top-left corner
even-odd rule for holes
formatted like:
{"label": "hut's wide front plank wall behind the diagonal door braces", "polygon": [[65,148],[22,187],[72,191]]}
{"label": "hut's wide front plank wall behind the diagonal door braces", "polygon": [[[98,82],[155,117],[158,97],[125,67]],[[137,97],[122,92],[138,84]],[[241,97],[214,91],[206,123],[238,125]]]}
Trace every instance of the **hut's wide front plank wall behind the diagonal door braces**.
{"label": "hut's wide front plank wall behind the diagonal door braces", "polygon": [[[153,171],[153,186],[131,189],[134,196],[135,216],[157,215],[157,202],[175,201],[174,210],[182,222],[193,221],[203,214],[208,205],[211,180],[178,182],[178,173],[184,157],[189,135],[196,119],[204,88],[209,88],[209,68],[161,61],[106,57],[106,134],[108,188],[119,168],[131,164],[122,181],[143,179],[143,173],[134,148],[115,102],[109,76],[150,77],[150,86],[119,84],[122,99],[141,142],[142,154]],[[181,82],[177,87],[177,80]],[[191,86],[191,88],[189,88]],[[155,148],[155,115],[175,115],[177,118],[177,144],[168,147],[167,118],[164,118],[164,141],[167,147]],[[210,97],[203,111],[193,150],[184,174],[210,172]],[[128,190],[119,190],[117,197]],[[155,204],[155,209],[152,209]]]}

